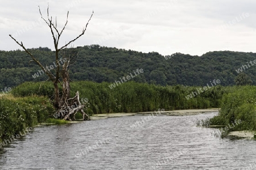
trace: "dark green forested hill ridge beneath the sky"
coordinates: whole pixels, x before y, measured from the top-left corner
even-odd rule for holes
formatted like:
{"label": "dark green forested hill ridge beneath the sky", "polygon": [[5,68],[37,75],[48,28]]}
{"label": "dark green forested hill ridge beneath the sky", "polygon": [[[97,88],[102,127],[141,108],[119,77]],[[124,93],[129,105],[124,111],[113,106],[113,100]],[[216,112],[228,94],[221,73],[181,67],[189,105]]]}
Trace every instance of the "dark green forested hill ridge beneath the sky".
{"label": "dark green forested hill ridge beneath the sky", "polygon": [[[133,50],[102,47],[99,45],[67,49],[67,53],[77,56],[71,65],[70,76],[74,80],[93,80],[110,82],[120,80],[122,76],[134,75],[133,70],[143,69],[143,73],[131,78],[136,82],[148,82],[161,85],[184,84],[187,86],[205,86],[213,79],[220,79],[222,86],[234,84],[237,69],[256,59],[256,53],[208,52],[203,56],[189,54],[160,55],[157,52],[142,53]],[[30,49],[46,66],[53,65],[55,52],[48,48]],[[14,87],[26,81],[47,80],[46,74],[38,73],[39,66],[30,62],[31,57],[21,50],[0,51],[0,88]],[[54,65],[53,65],[54,66]],[[54,67],[55,69],[55,67]],[[53,69],[52,69],[53,70]],[[256,84],[256,65],[243,70]]]}

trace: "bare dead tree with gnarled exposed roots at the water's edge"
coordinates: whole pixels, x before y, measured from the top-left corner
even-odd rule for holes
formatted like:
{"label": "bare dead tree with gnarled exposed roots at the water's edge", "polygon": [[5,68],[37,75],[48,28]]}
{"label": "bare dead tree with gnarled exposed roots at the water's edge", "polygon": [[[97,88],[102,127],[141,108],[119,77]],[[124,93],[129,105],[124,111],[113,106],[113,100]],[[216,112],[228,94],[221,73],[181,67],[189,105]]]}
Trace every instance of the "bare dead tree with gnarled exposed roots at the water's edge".
{"label": "bare dead tree with gnarled exposed roots at the water's edge", "polygon": [[[90,15],[90,18],[86,23],[85,27],[82,29],[82,33],[80,33],[80,35],[78,35],[75,39],[69,41],[67,44],[61,46],[60,48],[58,46],[59,40],[60,40],[61,34],[63,33],[68,23],[69,12],[67,12],[67,20],[64,24],[64,27],[61,30],[57,29],[57,19],[55,18],[55,22],[53,22],[52,16],[49,17],[49,6],[47,7],[47,19],[43,18],[40,7],[39,7],[39,13],[41,15],[41,18],[44,20],[44,22],[48,25],[48,27],[51,30],[51,35],[52,35],[54,46],[55,46],[56,69],[54,74],[48,69],[46,69],[47,67],[44,67],[42,63],[40,63],[40,61],[37,58],[35,58],[35,56],[29,50],[27,50],[27,48],[25,48],[22,41],[18,42],[16,39],[14,39],[13,36],[11,35],[9,36],[28,53],[28,55],[32,58],[31,60],[32,62],[34,61],[37,65],[39,65],[42,68],[42,70],[47,74],[48,80],[52,81],[55,89],[55,94],[54,94],[55,99],[53,101],[53,106],[56,110],[56,113],[53,114],[53,117],[63,118],[64,120],[75,120],[75,114],[80,111],[83,114],[83,120],[90,120],[90,117],[88,116],[88,114],[86,114],[83,110],[85,105],[82,105],[80,103],[79,91],[76,92],[75,97],[73,98],[70,97],[69,65],[71,62],[71,57],[63,55],[62,57],[63,57],[64,63],[61,66],[59,62],[59,56],[60,56],[60,53],[63,52],[63,50],[68,47],[68,45],[71,45],[72,42],[76,41],[77,39],[79,39],[79,37],[84,35],[86,28],[90,22],[90,19],[93,16],[93,12],[92,12],[92,15]],[[60,96],[59,85],[62,87],[62,94],[61,94],[62,96]]]}

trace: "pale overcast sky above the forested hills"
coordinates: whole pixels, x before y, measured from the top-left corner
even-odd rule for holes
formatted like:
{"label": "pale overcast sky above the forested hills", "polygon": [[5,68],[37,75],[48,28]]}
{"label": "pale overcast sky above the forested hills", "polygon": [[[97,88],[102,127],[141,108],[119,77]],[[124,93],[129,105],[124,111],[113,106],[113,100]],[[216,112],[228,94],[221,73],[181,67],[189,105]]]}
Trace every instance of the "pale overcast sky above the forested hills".
{"label": "pale overcast sky above the forested hills", "polygon": [[256,52],[256,1],[254,0],[0,0],[0,50],[20,49],[13,35],[27,48],[53,50],[48,26],[40,19],[57,16],[68,25],[60,45],[81,33],[73,46],[99,44],[164,56],[176,52],[198,55],[215,50]]}

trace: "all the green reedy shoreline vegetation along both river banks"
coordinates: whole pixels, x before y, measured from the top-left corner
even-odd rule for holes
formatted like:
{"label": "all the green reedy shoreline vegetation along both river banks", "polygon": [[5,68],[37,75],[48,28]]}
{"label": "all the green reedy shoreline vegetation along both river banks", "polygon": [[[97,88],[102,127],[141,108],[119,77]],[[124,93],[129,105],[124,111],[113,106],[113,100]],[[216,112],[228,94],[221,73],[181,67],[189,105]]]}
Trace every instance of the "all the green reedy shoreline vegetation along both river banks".
{"label": "all the green reedy shoreline vegetation along both river banks", "polygon": [[[162,114],[170,116],[200,113],[204,108],[221,108],[220,113],[209,120],[210,125],[228,125],[235,119],[243,123],[230,129],[256,130],[256,87],[216,86],[187,100],[186,96],[197,87],[156,86],[154,84],[126,82],[110,89],[110,83],[72,82],[71,96],[80,92],[81,100],[87,98],[86,113],[92,119],[117,117],[121,114],[148,115],[155,110],[166,110]],[[26,82],[14,88],[9,94],[0,94],[0,141],[22,131],[27,127],[40,124],[65,124],[62,120],[53,120],[53,87],[45,83]],[[255,95],[254,95],[255,94]],[[189,110],[193,109],[193,111]],[[217,112],[214,110],[213,112]],[[105,115],[104,115],[105,114]],[[80,119],[81,114],[76,114]]]}

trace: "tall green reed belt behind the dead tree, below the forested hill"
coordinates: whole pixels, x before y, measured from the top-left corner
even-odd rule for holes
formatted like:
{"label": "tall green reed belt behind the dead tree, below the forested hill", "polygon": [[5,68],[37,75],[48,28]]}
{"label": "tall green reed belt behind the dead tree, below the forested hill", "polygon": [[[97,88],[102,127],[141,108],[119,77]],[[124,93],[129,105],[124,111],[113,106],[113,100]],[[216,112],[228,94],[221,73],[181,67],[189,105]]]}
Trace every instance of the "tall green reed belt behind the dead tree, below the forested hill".
{"label": "tall green reed belt behind the dead tree, below the forested hill", "polygon": [[[41,82],[24,83],[14,88],[15,96],[53,94],[51,83],[45,83],[38,90]],[[71,82],[71,96],[80,92],[80,99],[87,98],[86,113],[117,113],[117,112],[149,112],[157,109],[193,109],[219,107],[222,94],[228,92],[228,87],[212,87],[192,99],[185,96],[196,91],[199,87],[159,86],[147,83],[126,82],[110,89],[110,83],[90,81]],[[81,117],[77,114],[77,117]]]}

